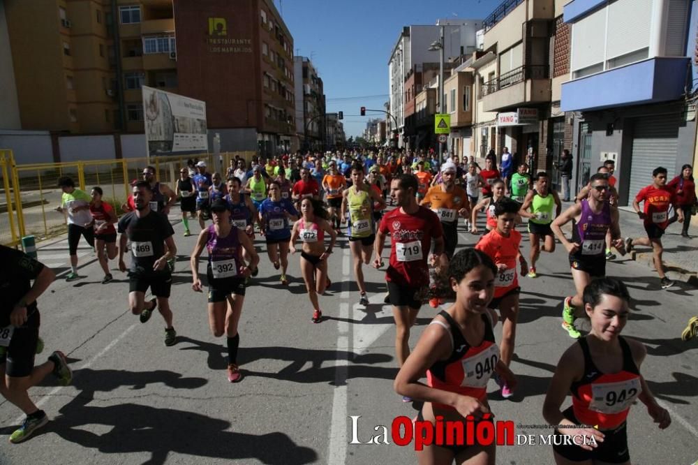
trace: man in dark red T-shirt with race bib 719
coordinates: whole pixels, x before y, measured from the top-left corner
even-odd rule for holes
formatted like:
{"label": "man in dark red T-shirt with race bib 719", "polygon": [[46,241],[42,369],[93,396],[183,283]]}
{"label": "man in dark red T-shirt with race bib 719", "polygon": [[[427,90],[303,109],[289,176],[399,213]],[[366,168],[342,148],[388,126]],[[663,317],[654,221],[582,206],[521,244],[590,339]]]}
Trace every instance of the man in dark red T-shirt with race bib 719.
{"label": "man in dark red T-shirt with race bib 719", "polygon": [[390,234],[390,260],[385,280],[396,325],[395,353],[401,367],[410,355],[410,327],[415,324],[429,285],[426,260],[432,239],[434,260],[438,260],[440,267],[448,266],[441,222],[434,212],[417,204],[417,189],[417,178],[413,175],[393,178],[390,196],[397,208],[383,216],[373,246],[376,252],[373,267],[379,268],[385,236]]}

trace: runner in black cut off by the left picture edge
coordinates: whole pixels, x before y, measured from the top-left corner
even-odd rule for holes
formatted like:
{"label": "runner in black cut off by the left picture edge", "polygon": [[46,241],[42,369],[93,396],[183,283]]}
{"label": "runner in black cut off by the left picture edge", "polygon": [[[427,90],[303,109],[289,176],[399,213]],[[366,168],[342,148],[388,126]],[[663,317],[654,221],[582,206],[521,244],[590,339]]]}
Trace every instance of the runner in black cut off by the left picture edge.
{"label": "runner in black cut off by the left picture edge", "polygon": [[62,385],[68,385],[73,374],[66,356],[59,350],[47,362],[34,367],[34,356],[40,351],[36,299],[56,275],[24,252],[3,245],[0,245],[0,263],[0,394],[27,415],[22,426],[10,435],[10,443],[16,444],[29,439],[48,422],[46,413],[29,398],[29,388],[50,373]]}

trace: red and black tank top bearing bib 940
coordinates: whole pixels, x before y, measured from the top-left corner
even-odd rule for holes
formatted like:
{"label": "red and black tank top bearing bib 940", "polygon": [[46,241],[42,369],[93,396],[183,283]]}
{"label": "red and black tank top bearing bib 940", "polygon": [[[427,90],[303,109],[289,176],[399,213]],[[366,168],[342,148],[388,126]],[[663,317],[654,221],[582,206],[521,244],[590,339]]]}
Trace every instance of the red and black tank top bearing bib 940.
{"label": "red and black tank top bearing bib 940", "polygon": [[[475,397],[484,401],[487,397],[487,382],[494,373],[499,360],[499,347],[495,344],[492,323],[487,313],[482,314],[484,337],[477,346],[470,346],[463,337],[460,327],[446,311],[440,311],[450,327],[453,349],[446,360],[438,360],[426,371],[429,387]],[[430,324],[440,325],[438,320]],[[433,404],[436,408],[454,410],[452,406]]]}

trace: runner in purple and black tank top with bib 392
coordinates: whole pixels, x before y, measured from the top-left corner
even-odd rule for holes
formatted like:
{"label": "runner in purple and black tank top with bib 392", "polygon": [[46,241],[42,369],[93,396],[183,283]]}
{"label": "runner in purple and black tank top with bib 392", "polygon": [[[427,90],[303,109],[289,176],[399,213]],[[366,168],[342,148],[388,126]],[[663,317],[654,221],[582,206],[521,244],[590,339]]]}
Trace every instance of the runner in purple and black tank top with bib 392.
{"label": "runner in purple and black tank top with bib 392", "polygon": [[[207,279],[209,282],[209,326],[214,337],[225,332],[228,345],[228,381],[237,383],[242,379],[237,365],[237,348],[240,335],[237,324],[245,299],[245,279],[257,269],[259,257],[252,241],[242,229],[230,224],[230,209],[224,200],[211,203],[213,224],[202,230],[194,251],[191,253],[191,288],[202,292],[199,277],[199,257],[204,248],[209,253]],[[244,266],[242,250],[251,258],[249,266]]]}

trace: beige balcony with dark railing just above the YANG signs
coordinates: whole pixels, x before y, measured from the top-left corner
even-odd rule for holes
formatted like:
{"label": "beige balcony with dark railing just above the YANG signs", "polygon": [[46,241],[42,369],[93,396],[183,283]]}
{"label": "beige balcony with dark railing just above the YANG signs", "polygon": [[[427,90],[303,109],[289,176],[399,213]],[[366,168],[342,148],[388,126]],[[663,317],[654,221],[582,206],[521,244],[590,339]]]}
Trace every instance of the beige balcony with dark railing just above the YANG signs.
{"label": "beige balcony with dark railing just above the YANG signs", "polygon": [[520,66],[480,87],[480,98],[486,112],[506,110],[524,103],[549,102],[550,97],[547,65]]}

